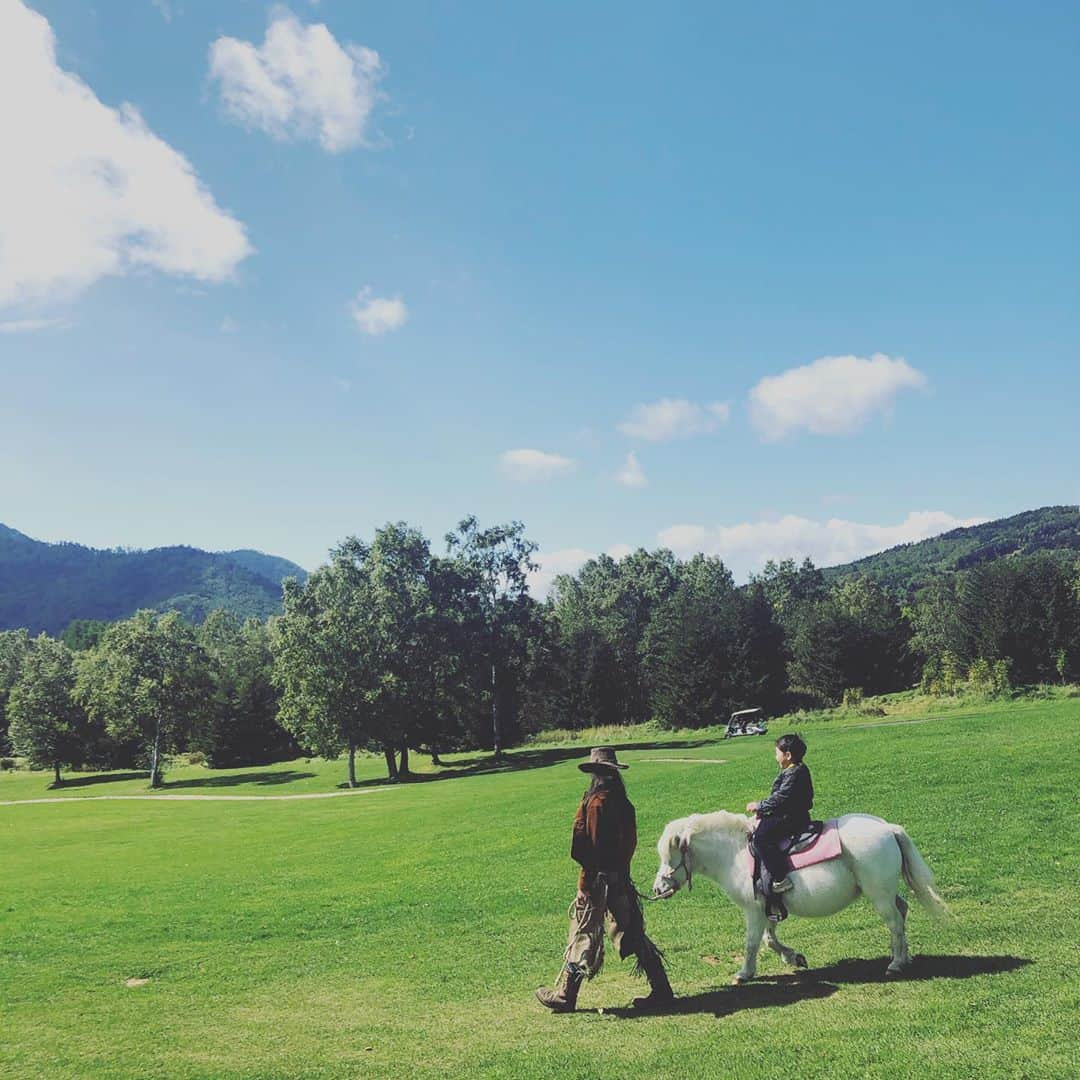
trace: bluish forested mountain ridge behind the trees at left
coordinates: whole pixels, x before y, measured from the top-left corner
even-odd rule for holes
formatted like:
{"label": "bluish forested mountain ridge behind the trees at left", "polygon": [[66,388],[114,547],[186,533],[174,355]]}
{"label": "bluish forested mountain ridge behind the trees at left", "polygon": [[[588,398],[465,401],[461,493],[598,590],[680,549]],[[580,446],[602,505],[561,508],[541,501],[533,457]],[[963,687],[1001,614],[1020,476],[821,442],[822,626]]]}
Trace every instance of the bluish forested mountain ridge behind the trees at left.
{"label": "bluish forested mountain ridge behind the trees at left", "polygon": [[0,524],[0,630],[59,634],[75,619],[124,619],[139,608],[202,622],[215,608],[265,619],[281,610],[281,582],[307,571],[276,555],[185,545],[103,551],[44,543]]}

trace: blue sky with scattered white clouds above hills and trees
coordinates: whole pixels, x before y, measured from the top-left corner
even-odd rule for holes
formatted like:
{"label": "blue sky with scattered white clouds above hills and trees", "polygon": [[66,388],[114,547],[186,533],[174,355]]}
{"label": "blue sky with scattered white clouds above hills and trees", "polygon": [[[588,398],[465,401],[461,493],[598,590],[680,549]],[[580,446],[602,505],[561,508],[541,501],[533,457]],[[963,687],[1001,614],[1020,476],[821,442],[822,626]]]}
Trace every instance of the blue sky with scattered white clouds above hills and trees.
{"label": "blue sky with scattered white clouds above hills and trees", "polygon": [[475,513],[549,573],[744,576],[1076,503],[1078,40],[1065,3],[0,0],[0,521],[311,567]]}

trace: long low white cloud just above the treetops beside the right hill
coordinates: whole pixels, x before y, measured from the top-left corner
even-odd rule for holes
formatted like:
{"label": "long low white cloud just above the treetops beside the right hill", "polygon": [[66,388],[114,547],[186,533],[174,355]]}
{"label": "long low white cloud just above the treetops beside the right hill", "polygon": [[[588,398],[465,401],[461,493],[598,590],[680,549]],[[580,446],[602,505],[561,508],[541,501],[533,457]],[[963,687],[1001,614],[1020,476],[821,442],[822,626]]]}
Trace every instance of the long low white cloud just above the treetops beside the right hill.
{"label": "long low white cloud just above the treetops beside the right hill", "polygon": [[809,557],[816,566],[835,566],[873,555],[896,544],[914,543],[985,517],[954,517],[941,510],[913,511],[896,525],[865,525],[832,517],[815,522],[787,514],[739,525],[673,525],[659,535],[660,543],[681,558],[698,552],[719,555],[737,578],[759,570],[770,559]]}

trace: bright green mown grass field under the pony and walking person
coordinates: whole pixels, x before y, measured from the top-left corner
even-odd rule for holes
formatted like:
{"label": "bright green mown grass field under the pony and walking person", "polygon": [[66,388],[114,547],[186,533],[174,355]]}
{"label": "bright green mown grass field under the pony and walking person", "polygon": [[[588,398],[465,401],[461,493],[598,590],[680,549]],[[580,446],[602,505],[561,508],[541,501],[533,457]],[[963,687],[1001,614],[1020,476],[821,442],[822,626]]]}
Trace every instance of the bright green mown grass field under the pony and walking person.
{"label": "bright green mown grass field under the pony and walking person", "polygon": [[[806,723],[815,812],[903,824],[955,919],[913,907],[918,959],[897,981],[865,902],[791,919],[810,970],[766,953],[737,988],[741,916],[696,882],[646,910],[680,996],[667,1015],[630,1013],[642,984],[610,959],[579,1013],[532,999],[565,944],[580,743],[396,786],[372,758],[367,786],[325,799],[265,796],[336,792],[342,762],[166,778],[264,796],[232,801],[0,775],[0,802],[66,804],[0,806],[0,1076],[1075,1076],[1080,699],[896,710]],[[620,757],[646,890],[665,822],[741,809],[774,770],[771,739],[707,732],[637,732]]]}

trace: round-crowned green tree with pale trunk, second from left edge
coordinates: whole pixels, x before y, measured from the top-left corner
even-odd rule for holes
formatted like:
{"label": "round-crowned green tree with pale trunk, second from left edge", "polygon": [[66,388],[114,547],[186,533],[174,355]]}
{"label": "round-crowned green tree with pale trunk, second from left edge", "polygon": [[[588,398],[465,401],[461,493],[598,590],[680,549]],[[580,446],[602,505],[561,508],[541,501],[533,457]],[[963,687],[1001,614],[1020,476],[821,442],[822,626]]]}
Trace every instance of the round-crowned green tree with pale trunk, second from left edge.
{"label": "round-crowned green tree with pale trunk, second from left edge", "polygon": [[139,740],[151,787],[161,786],[163,756],[203,723],[212,693],[206,653],[175,611],[113,623],[78,665],[77,700],[116,740]]}

